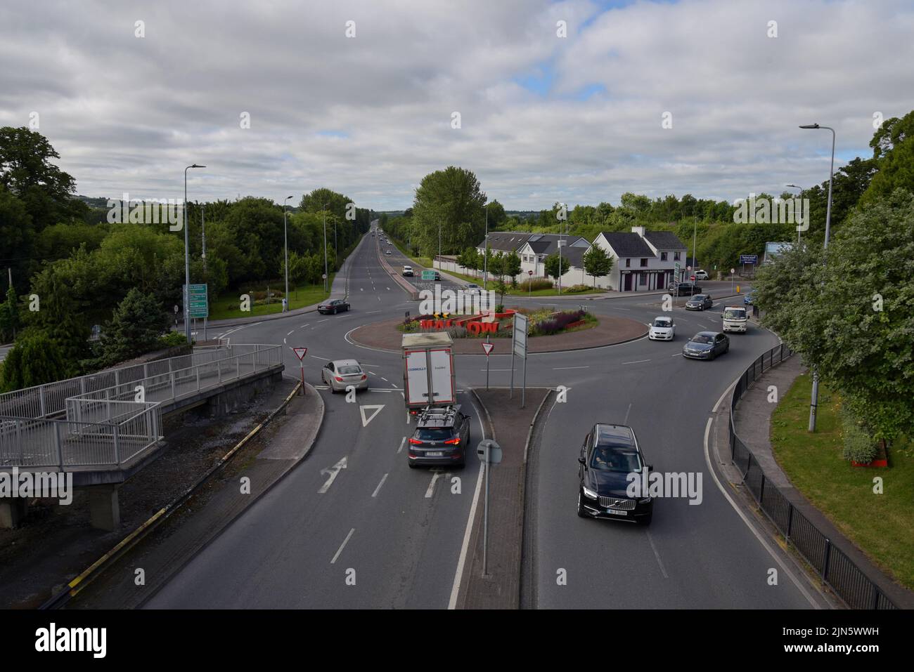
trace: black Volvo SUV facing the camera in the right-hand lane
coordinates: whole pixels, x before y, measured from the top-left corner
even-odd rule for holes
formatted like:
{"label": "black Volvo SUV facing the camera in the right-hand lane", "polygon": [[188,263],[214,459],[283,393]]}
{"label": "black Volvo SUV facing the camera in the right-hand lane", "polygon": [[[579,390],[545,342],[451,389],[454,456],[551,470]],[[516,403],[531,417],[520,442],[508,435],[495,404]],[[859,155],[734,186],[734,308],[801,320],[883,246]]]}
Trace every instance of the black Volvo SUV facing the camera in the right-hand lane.
{"label": "black Volvo SUV facing the camera in the right-hand lane", "polygon": [[638,474],[641,480],[652,468],[644,462],[632,427],[608,423],[594,425],[580,448],[578,462],[578,515],[581,518],[650,524],[654,500],[646,494],[629,497],[627,492],[629,474]]}

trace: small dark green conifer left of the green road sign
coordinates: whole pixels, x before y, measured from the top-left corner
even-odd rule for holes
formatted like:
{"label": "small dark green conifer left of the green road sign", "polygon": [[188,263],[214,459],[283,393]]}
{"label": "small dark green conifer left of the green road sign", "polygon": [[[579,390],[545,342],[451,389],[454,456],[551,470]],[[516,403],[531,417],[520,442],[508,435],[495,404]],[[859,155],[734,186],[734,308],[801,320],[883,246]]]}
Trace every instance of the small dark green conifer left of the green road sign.
{"label": "small dark green conifer left of the green road sign", "polygon": [[133,288],[101,335],[101,364],[111,366],[154,350],[168,316],[152,294]]}

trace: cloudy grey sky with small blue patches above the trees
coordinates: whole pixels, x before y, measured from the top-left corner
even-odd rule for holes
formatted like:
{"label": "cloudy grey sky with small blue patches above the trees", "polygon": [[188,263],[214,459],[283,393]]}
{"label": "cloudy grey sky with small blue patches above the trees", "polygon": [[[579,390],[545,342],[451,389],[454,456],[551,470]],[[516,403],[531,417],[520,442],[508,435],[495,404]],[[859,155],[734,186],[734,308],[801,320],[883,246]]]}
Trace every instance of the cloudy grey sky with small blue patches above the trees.
{"label": "cloudy grey sky with small blue patches above the trees", "polygon": [[37,121],[90,196],[181,197],[196,162],[191,200],[392,210],[454,164],[508,209],[732,201],[827,179],[798,124],[870,155],[914,109],[912,35],[910,0],[4,3],[0,125]]}

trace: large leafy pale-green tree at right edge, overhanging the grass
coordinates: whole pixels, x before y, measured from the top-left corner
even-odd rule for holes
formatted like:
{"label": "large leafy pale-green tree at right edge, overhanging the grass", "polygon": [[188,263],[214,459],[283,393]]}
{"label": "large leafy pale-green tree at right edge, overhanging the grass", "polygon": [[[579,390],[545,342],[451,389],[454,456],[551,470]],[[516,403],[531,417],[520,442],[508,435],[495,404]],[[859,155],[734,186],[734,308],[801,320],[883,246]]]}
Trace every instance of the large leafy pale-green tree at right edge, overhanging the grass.
{"label": "large leafy pale-green tree at right edge, overhanging the grass", "polygon": [[898,189],[848,217],[827,258],[795,247],[760,268],[763,324],[776,331],[877,439],[914,435],[914,194]]}

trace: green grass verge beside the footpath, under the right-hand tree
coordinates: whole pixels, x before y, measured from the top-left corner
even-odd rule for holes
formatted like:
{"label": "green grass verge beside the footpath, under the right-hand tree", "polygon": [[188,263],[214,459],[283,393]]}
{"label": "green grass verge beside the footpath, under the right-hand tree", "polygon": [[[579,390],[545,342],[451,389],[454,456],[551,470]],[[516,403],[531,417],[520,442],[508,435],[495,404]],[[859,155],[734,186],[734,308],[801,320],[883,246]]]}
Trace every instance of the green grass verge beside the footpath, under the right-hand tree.
{"label": "green grass verge beside the footpath, under the right-hand tree", "polygon": [[[812,378],[803,374],[771,415],[771,447],[794,487],[880,568],[914,589],[914,443],[888,448],[888,468],[852,467],[842,458],[841,399],[819,386],[816,432],[809,434]],[[874,494],[874,478],[883,493]]]}

